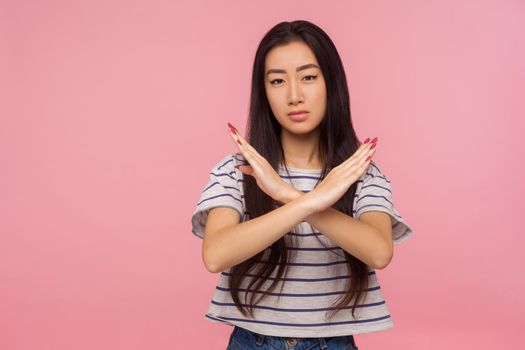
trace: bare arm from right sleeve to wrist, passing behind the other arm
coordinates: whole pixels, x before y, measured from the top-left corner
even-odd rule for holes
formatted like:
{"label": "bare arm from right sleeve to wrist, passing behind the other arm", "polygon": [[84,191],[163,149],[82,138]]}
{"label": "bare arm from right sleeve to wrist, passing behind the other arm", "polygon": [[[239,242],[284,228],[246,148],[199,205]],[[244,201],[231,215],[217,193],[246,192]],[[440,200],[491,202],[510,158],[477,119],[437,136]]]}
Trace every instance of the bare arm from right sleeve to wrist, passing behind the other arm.
{"label": "bare arm from right sleeve to wrist, passing behind the other arm", "polygon": [[[282,203],[307,196],[293,189],[280,199]],[[305,219],[338,246],[374,269],[385,268],[392,260],[393,240],[390,215],[367,212],[360,219],[334,208],[313,212]],[[349,234],[351,233],[351,234]]]}

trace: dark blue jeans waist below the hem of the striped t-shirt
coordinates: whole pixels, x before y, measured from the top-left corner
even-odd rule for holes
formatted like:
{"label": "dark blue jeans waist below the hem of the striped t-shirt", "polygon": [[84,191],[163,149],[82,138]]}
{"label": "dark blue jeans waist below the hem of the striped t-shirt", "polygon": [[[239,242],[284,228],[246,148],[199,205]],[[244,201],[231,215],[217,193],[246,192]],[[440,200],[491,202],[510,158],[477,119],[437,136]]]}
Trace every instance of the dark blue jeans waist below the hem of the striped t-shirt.
{"label": "dark blue jeans waist below the hem of the striped t-shirt", "polygon": [[234,327],[226,350],[357,350],[352,335],[329,338],[286,338]]}

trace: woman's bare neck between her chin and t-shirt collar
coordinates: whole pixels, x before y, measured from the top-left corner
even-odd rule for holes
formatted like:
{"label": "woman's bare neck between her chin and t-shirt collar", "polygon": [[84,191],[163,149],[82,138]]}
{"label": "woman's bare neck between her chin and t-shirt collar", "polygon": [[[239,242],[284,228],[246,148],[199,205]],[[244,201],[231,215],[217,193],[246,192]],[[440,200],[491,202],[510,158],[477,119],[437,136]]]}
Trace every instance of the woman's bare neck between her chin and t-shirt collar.
{"label": "woman's bare neck between her chin and t-shirt collar", "polygon": [[304,135],[291,134],[283,129],[281,143],[287,166],[292,168],[322,168],[319,157],[319,129]]}

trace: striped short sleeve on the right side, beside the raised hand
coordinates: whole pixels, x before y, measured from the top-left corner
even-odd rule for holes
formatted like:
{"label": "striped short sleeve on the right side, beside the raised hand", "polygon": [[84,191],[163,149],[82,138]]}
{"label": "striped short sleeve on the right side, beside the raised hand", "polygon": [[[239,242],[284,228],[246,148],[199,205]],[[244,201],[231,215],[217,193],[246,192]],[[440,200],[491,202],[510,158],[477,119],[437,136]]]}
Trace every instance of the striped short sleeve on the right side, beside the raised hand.
{"label": "striped short sleeve on the right side, beside the raised hand", "polygon": [[359,218],[368,211],[382,211],[392,217],[392,234],[394,244],[400,244],[412,235],[412,228],[394,206],[390,180],[379,169],[374,161],[361,177],[354,199],[354,217]]}

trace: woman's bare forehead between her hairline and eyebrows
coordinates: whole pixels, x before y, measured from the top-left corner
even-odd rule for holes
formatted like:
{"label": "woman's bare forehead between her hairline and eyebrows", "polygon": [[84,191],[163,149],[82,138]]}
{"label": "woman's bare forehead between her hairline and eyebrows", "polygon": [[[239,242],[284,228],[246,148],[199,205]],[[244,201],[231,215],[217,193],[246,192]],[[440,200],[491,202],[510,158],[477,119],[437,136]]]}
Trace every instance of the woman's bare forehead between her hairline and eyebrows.
{"label": "woman's bare forehead between her hairline and eyebrows", "polygon": [[307,63],[319,65],[313,51],[303,42],[292,42],[276,46],[268,51],[264,70],[271,68],[293,69]]}

